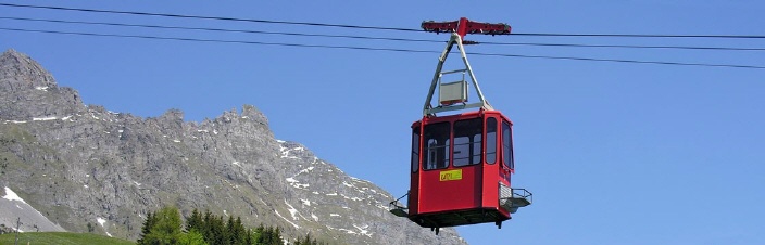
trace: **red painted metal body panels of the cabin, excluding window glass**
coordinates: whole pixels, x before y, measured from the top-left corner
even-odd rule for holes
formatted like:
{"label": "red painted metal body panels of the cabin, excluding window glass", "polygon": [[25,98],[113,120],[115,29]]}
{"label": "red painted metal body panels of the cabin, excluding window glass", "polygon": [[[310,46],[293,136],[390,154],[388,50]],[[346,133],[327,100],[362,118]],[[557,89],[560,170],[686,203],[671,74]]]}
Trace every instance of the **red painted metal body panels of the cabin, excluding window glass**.
{"label": "red painted metal body panels of the cabin, excluding window glass", "polygon": [[[454,152],[449,150],[449,166],[442,169],[425,170],[422,154],[427,154],[425,150],[424,129],[428,125],[439,122],[450,122],[481,118],[481,162],[477,165],[455,167]],[[496,147],[494,163],[487,163],[487,119],[494,118],[496,124],[494,141]],[[418,153],[416,159],[416,170],[412,171],[409,195],[409,219],[426,228],[455,227],[485,222],[502,222],[511,218],[510,210],[505,210],[499,203],[499,184],[511,186],[510,176],[512,169],[505,167],[502,157],[502,121],[512,121],[498,111],[467,112],[457,115],[441,117],[423,117],[422,120],[412,124],[413,130],[418,130],[416,142]],[[450,142],[454,141],[454,131],[451,129]],[[512,138],[512,133],[510,134]],[[511,139],[512,141],[512,139]],[[414,142],[414,141],[413,141]],[[451,145],[451,147],[455,147]],[[471,156],[472,157],[472,156]],[[468,159],[472,160],[472,159]],[[443,172],[461,171],[459,180],[443,181]]]}

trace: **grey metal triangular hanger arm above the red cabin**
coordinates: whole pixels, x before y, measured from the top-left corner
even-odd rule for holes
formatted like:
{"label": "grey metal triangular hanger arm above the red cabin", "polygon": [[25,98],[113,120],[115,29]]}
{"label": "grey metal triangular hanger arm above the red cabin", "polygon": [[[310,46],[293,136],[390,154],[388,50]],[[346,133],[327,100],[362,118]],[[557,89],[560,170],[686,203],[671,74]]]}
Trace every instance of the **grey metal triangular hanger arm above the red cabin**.
{"label": "grey metal triangular hanger arm above the red cabin", "polygon": [[[432,95],[436,92],[436,87],[440,85],[440,78],[443,76],[443,74],[450,74],[453,72],[446,72],[441,73],[441,69],[443,68],[443,63],[447,61],[447,57],[449,56],[449,53],[452,50],[452,47],[456,43],[457,49],[460,50],[460,55],[462,56],[462,62],[465,64],[464,70],[467,72],[467,74],[471,77],[471,81],[473,85],[473,88],[476,90],[476,93],[478,94],[478,100],[479,102],[473,103],[473,104],[456,104],[456,105],[439,105],[434,107],[430,102],[432,101]],[[462,72],[462,70],[461,70]],[[473,68],[471,67],[471,63],[467,62],[467,55],[465,54],[465,47],[462,43],[462,37],[460,37],[459,34],[452,33],[451,38],[449,39],[449,42],[447,42],[447,48],[443,49],[443,52],[441,53],[441,56],[438,59],[438,65],[436,66],[436,74],[432,76],[432,81],[430,81],[430,90],[428,90],[428,96],[425,99],[425,105],[423,106],[423,116],[435,116],[436,113],[441,113],[441,112],[449,112],[449,111],[457,111],[457,109],[464,109],[464,108],[475,108],[475,107],[481,107],[484,109],[492,111],[493,107],[491,107],[491,104],[484,98],[484,93],[480,91],[480,87],[478,87],[478,80],[476,79],[476,76],[473,74]]]}

